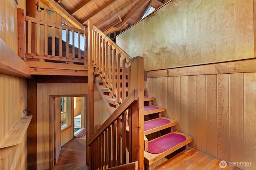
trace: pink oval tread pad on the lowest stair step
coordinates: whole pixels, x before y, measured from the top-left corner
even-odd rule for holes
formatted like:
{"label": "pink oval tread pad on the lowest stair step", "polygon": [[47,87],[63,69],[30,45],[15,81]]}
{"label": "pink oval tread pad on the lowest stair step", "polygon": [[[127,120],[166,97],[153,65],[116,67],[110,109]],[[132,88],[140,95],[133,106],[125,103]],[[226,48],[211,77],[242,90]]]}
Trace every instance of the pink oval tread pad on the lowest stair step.
{"label": "pink oval tread pad on the lowest stair step", "polygon": [[152,154],[162,153],[184,141],[186,141],[186,137],[184,137],[183,135],[177,133],[170,133],[154,141],[149,141],[148,152]]}

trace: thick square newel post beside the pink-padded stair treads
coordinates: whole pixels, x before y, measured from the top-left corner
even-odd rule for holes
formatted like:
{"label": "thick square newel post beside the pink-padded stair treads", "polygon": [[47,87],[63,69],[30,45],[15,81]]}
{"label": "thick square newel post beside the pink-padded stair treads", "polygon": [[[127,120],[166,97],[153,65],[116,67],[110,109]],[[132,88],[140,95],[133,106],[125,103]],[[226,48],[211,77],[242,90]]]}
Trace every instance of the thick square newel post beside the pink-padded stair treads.
{"label": "thick square newel post beside the pink-padded stair treads", "polygon": [[[132,162],[144,170],[144,64],[143,57],[134,57],[130,65],[130,93],[138,89],[138,101],[132,105]],[[130,121],[130,120],[129,120]]]}

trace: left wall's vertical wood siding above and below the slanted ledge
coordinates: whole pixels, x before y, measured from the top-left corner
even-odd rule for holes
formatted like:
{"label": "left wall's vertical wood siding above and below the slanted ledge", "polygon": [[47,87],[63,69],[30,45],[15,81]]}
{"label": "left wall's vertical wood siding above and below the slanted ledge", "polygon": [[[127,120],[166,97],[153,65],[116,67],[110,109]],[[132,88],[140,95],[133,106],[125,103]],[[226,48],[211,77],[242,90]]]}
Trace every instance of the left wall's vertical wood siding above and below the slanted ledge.
{"label": "left wall's vertical wood siding above and below the slanted ledge", "polygon": [[[27,108],[26,79],[0,74],[0,143],[10,133]],[[1,154],[1,153],[0,153]],[[27,133],[22,143],[0,160],[0,169],[26,170]]]}

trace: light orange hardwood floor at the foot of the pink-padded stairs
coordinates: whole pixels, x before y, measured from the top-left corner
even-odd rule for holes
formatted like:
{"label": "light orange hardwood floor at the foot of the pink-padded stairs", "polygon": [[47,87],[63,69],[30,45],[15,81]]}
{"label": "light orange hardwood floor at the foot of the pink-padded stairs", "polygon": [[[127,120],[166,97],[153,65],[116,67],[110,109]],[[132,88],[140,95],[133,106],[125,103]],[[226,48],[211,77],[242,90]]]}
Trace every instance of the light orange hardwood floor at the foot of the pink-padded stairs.
{"label": "light orange hardwood floor at the foot of the pink-padded stairs", "polygon": [[229,166],[220,168],[220,160],[194,148],[184,150],[166,162],[156,166],[154,170],[240,170]]}

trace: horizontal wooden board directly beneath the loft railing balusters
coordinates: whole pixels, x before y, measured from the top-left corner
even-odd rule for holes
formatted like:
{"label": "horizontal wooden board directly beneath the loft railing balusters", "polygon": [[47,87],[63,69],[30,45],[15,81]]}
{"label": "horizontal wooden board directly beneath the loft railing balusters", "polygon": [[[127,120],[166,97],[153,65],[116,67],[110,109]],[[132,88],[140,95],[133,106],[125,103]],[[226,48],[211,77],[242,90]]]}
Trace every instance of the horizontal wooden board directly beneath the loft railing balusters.
{"label": "horizontal wooden board directly beneath the loft railing balusters", "polygon": [[31,75],[88,76],[87,70],[65,70],[52,68],[31,68]]}

